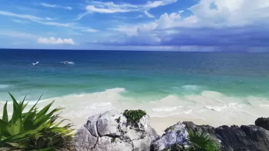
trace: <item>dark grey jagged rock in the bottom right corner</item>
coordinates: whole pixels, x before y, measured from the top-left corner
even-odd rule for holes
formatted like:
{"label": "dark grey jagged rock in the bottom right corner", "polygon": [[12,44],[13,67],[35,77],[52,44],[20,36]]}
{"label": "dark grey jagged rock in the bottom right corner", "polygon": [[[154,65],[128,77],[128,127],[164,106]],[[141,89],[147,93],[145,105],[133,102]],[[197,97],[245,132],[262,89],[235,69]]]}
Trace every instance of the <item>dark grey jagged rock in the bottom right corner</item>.
{"label": "dark grey jagged rock in the bottom right corner", "polygon": [[268,151],[269,150],[269,132],[262,127],[255,125],[242,125],[238,127],[226,125],[221,127],[211,127],[209,125],[194,125],[193,122],[183,122],[186,129],[194,131],[203,131],[210,134],[215,140],[221,143],[221,150],[236,151]]}

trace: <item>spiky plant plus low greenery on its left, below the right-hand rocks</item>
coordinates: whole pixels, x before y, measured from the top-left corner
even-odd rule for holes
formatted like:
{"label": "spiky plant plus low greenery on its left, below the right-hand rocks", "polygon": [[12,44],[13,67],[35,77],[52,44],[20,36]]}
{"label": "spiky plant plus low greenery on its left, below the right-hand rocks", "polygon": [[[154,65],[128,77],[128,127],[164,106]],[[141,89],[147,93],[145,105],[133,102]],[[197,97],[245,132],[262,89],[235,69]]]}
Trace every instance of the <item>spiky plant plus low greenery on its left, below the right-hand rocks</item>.
{"label": "spiky plant plus low greenery on its left, below the right-hand rocks", "polygon": [[170,145],[170,147],[164,149],[163,151],[219,151],[219,146],[210,136],[206,135],[204,132],[198,133],[189,131],[189,136],[187,137],[188,148],[185,148],[183,144],[176,143]]}

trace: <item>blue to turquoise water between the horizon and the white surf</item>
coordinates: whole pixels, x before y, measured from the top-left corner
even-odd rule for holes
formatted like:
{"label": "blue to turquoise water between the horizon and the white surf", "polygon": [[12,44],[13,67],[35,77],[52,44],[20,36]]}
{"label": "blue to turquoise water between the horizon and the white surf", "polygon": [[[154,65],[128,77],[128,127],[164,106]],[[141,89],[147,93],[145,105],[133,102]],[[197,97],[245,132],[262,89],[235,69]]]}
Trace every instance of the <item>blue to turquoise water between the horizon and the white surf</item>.
{"label": "blue to turquoise water between the horizon and the white surf", "polygon": [[[150,51],[1,50],[0,99],[33,100],[125,88],[133,97],[212,90],[268,97],[269,54]],[[73,61],[66,65],[61,61]],[[30,65],[40,61],[38,65]]]}

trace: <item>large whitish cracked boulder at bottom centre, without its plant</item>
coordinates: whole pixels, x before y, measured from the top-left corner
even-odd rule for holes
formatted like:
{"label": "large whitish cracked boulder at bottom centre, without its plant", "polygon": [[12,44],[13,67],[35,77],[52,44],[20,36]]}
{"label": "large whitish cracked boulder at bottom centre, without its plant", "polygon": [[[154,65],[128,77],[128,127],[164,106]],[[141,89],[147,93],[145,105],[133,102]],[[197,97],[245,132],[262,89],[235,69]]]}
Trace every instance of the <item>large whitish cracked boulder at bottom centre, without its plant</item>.
{"label": "large whitish cracked boulder at bottom centre, without its plant", "polygon": [[137,123],[127,122],[121,111],[107,111],[89,117],[75,134],[78,151],[149,151],[159,136],[150,127],[149,116]]}

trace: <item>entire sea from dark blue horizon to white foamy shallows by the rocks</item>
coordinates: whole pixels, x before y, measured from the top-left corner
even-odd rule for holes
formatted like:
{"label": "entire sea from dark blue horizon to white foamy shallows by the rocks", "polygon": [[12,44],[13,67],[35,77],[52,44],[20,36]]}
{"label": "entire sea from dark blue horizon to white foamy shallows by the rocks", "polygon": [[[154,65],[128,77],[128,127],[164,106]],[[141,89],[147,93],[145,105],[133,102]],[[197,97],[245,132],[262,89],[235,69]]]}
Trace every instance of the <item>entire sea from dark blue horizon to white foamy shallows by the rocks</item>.
{"label": "entire sea from dark blue horizon to white foamy shallows by the rocks", "polygon": [[65,118],[145,109],[151,117],[253,124],[269,115],[268,91],[266,53],[0,49],[0,101],[10,102],[10,92],[34,104],[43,94]]}

